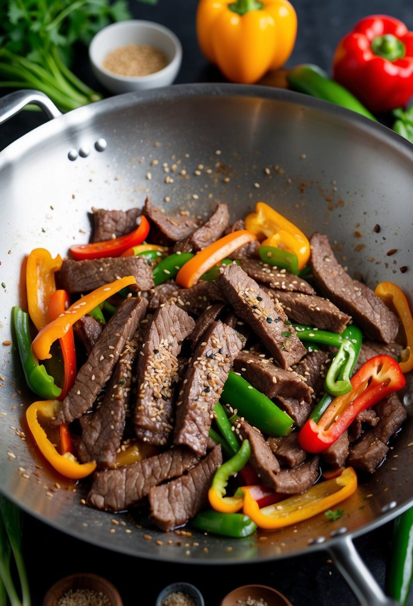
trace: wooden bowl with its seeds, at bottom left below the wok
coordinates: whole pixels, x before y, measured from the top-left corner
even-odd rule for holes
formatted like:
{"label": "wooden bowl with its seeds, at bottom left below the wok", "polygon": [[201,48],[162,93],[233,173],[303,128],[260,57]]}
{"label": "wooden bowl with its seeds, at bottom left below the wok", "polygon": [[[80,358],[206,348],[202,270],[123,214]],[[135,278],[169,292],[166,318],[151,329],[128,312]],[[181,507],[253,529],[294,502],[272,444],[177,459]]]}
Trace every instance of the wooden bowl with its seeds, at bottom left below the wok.
{"label": "wooden bowl with its seeds, at bottom left below the wok", "polygon": [[99,574],[92,573],[70,574],[70,576],[60,579],[47,591],[42,606],[57,606],[58,604],[65,606],[65,604],[77,603],[123,606],[122,598],[116,587]]}

